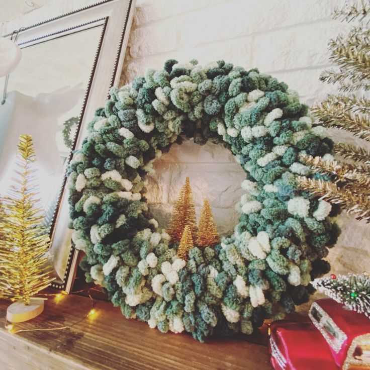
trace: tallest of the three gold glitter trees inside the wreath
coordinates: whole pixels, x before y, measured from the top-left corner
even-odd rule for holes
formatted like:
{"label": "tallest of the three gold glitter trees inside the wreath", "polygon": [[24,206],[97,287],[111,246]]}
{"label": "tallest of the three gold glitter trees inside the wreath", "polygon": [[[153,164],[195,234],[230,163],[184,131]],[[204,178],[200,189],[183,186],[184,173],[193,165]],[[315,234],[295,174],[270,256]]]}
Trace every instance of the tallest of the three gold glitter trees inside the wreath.
{"label": "tallest of the three gold glitter trees inside the wreath", "polygon": [[186,225],[189,226],[192,236],[195,239],[197,236],[197,217],[189,177],[186,178],[180,190],[169,222],[167,233],[171,237],[172,242],[176,243],[180,241]]}

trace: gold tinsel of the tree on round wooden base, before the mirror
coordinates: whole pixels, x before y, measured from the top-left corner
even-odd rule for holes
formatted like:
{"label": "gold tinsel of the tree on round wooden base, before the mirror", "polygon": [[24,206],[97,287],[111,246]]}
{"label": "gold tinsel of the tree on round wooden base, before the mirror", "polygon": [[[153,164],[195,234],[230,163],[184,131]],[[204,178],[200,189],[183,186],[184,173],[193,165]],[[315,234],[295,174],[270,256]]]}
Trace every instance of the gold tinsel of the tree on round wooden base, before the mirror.
{"label": "gold tinsel of the tree on round wooden base, before the mirror", "polygon": [[2,199],[4,217],[0,240],[0,291],[6,298],[30,299],[54,280],[48,263],[50,239],[36,199],[35,152],[32,137],[21,135],[15,184]]}

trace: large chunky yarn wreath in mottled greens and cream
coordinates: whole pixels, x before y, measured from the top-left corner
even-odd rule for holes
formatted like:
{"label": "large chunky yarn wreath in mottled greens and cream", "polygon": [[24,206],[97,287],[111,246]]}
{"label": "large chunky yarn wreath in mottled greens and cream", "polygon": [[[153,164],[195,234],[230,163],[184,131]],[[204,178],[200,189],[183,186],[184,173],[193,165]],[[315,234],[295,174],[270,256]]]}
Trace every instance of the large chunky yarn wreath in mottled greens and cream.
{"label": "large chunky yarn wreath in mottled greens and cream", "polygon": [[[181,135],[229,148],[246,172],[234,234],[177,254],[143,196],[152,163]],[[87,282],[127,318],[162,332],[251,333],[307,302],[309,282],[339,231],[331,206],[299,189],[300,153],[330,156],[332,141],[298,95],[257,69],[167,60],[111,89],[69,166],[72,242]],[[329,215],[329,213],[331,213]]]}

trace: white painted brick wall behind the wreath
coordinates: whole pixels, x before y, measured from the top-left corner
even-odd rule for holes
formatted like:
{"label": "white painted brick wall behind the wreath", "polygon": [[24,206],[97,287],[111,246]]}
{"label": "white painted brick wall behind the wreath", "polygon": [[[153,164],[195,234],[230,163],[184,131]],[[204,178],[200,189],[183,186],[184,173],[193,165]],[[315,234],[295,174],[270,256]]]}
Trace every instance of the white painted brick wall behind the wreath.
{"label": "white painted brick wall behind the wreath", "polygon": [[[343,1],[137,0],[121,82],[148,67],[161,68],[168,58],[196,58],[202,64],[224,59],[272,74],[311,105],[334,91],[318,78],[330,65],[329,39],[348,28],[330,16]],[[162,225],[184,178],[190,176],[198,214],[207,197],[219,231],[232,230],[244,172],[226,149],[192,142],[173,145],[155,168],[148,200]],[[364,271],[370,260],[370,230],[351,217],[341,219],[343,233],[330,253],[333,269]]]}

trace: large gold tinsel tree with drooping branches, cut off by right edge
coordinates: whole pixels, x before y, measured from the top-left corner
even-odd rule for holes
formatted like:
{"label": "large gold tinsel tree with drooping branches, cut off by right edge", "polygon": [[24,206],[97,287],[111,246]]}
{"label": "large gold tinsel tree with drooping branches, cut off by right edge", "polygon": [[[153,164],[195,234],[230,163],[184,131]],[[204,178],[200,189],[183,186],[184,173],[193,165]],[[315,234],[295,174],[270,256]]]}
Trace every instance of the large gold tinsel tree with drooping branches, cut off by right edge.
{"label": "large gold tinsel tree with drooping branches, cut off by right edge", "polygon": [[[356,25],[345,36],[331,40],[331,60],[337,68],[325,71],[320,79],[337,83],[339,93],[329,95],[312,109],[321,124],[345,130],[370,141],[370,2],[346,5],[334,12],[334,18]],[[341,160],[323,160],[302,155],[315,171],[325,173],[331,181],[299,177],[301,186],[328,202],[354,213],[358,220],[370,222],[370,152],[363,147],[336,143]]]}

